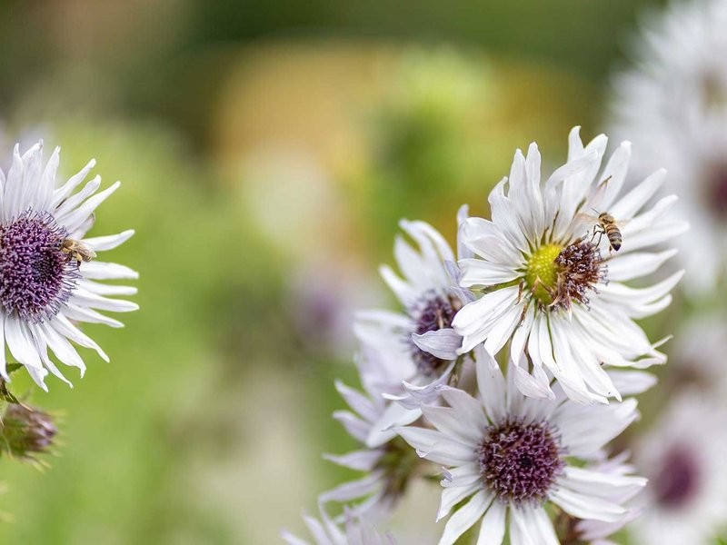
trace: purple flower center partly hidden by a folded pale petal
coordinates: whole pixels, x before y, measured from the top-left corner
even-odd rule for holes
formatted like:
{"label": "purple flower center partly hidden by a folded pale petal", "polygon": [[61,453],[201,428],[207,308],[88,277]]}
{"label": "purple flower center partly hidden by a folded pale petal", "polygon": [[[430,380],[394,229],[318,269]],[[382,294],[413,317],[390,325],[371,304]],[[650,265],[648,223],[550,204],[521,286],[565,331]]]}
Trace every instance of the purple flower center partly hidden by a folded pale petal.
{"label": "purple flower center partly hidden by a folded pale petal", "polygon": [[[423,335],[426,332],[436,332],[452,327],[454,314],[461,306],[459,300],[453,300],[435,292],[427,293],[412,312],[416,320],[414,332]],[[407,342],[412,345],[412,357],[417,370],[425,377],[432,377],[442,371],[447,362],[421,350],[408,335]]]}

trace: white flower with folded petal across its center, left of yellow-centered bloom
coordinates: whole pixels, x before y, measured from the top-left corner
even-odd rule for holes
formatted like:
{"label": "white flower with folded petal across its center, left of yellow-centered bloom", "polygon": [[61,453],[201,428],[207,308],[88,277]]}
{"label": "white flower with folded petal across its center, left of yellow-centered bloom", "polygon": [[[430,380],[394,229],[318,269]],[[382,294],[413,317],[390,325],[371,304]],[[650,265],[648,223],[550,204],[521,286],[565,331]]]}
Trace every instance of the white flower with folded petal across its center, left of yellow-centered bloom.
{"label": "white flower with folded petal across its center, left of yellow-centered bloom", "polygon": [[[459,223],[466,214],[463,207],[457,216]],[[385,265],[381,274],[404,312],[359,312],[354,325],[375,368],[372,390],[398,401],[398,406],[387,408],[382,421],[374,423],[366,441],[370,447],[389,441],[395,436],[393,424],[416,420],[421,414],[419,404],[436,398],[462,345],[462,337],[452,329],[453,317],[463,304],[474,300],[471,292],[457,285],[461,275],[443,236],[428,223],[402,221],[401,226],[417,243],[418,251],[397,237],[394,257],[403,278]],[[460,257],[469,255],[460,248]],[[403,420],[404,415],[408,420]]]}

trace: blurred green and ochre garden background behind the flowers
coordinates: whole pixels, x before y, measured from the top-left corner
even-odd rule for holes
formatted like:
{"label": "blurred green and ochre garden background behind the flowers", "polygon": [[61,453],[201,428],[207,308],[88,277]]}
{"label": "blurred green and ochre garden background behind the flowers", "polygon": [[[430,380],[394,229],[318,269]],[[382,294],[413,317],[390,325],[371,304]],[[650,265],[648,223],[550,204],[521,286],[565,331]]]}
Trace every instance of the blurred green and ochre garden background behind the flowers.
{"label": "blurred green and ochre garden background behind the flowers", "polygon": [[87,328],[111,364],[86,351],[73,390],[33,393],[63,415],[62,444],[45,473],[3,462],[0,541],[301,530],[352,477],[321,459],[353,446],[329,417],[333,380],[355,382],[354,309],[391,302],[376,265],[397,220],[452,240],[459,204],[486,213],[516,147],[536,140],[553,166],[571,126],[600,132],[652,4],[0,4],[0,162],[39,136],[66,176],[95,157],[123,184],[92,235],[134,228],[104,258],[141,274],[126,328]]}

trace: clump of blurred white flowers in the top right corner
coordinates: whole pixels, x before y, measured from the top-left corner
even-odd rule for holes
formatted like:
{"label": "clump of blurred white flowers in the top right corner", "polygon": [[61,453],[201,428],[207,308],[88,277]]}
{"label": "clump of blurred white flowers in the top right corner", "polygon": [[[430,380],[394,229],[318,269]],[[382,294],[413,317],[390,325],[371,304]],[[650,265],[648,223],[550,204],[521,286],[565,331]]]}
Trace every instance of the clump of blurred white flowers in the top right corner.
{"label": "clump of blurred white flowers in the top right corner", "polygon": [[644,18],[634,67],[614,78],[611,131],[633,143],[634,173],[669,171],[675,212],[692,226],[677,244],[692,293],[727,267],[727,3],[673,2]]}

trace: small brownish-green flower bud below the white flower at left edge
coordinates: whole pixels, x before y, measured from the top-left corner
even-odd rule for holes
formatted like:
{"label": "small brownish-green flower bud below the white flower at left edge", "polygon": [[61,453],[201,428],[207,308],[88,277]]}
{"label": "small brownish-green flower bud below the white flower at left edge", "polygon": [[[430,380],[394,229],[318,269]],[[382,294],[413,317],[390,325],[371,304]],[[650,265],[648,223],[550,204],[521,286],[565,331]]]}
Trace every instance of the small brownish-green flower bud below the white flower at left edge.
{"label": "small brownish-green flower bud below the white flower at left edge", "polygon": [[51,451],[58,429],[47,412],[20,403],[8,403],[0,419],[0,451],[23,461]]}

